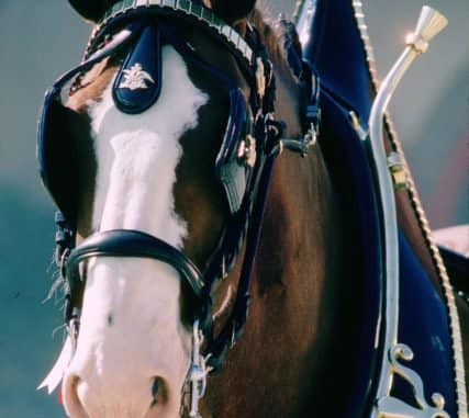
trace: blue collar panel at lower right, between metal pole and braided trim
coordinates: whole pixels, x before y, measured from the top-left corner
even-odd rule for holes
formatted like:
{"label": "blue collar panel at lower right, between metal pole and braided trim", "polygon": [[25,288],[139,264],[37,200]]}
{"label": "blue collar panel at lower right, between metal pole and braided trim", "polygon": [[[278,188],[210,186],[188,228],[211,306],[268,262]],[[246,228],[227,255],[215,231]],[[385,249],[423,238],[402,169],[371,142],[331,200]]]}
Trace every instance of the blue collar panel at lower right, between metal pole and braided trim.
{"label": "blue collar panel at lower right, between metal pole and braided trim", "polygon": [[[426,402],[431,402],[433,393],[440,393],[446,399],[445,410],[450,417],[456,417],[456,388],[446,306],[402,234],[399,236],[399,342],[407,344],[414,352],[414,359],[403,364],[422,377]],[[414,404],[409,384],[399,379],[394,388],[395,396]]]}

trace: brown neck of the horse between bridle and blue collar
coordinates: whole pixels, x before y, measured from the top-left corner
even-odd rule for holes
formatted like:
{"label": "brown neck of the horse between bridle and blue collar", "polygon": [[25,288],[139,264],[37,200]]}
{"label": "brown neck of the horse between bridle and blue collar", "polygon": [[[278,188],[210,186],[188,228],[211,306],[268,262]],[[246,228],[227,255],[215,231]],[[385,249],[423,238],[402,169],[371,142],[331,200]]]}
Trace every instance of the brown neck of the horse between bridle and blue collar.
{"label": "brown neck of the horse between bridle and blue collar", "polygon": [[[265,23],[257,27],[272,36]],[[300,135],[298,86],[280,47],[266,41],[277,72],[276,115],[287,123],[287,135]],[[349,373],[340,359],[349,358],[353,327],[344,319],[350,321],[345,295],[351,294],[351,284],[342,280],[340,224],[320,145],[304,159],[281,155],[268,196],[250,316],[223,371],[209,380],[208,416],[211,410],[226,418],[342,416]]]}

